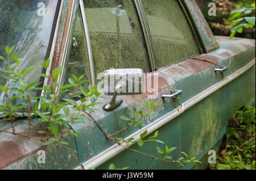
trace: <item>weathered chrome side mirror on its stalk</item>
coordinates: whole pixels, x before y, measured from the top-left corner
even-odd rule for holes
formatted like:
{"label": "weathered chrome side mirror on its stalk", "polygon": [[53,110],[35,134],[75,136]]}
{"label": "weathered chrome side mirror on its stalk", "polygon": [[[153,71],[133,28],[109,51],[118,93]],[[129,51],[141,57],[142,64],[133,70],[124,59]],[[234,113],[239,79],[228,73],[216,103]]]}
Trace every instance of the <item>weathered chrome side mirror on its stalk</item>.
{"label": "weathered chrome side mirror on its stalk", "polygon": [[104,94],[113,95],[112,100],[103,107],[113,111],[123,100],[117,95],[142,94],[144,91],[144,72],[142,69],[110,69],[104,71]]}

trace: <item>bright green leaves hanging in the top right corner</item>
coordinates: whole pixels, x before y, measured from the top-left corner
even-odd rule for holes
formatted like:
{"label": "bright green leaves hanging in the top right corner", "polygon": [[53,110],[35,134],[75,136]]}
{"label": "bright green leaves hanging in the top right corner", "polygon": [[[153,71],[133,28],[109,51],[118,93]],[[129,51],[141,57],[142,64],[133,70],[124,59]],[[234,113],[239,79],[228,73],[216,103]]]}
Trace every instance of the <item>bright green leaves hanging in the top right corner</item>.
{"label": "bright green leaves hanging in the top right corner", "polygon": [[[241,9],[233,10],[230,12],[230,14],[233,14],[233,19],[241,17],[241,14],[249,15],[253,12],[255,12],[255,3],[251,5],[251,8],[242,7]],[[246,23],[241,23],[246,22]],[[241,23],[241,24],[238,24]],[[229,39],[232,39],[234,35],[236,35],[236,32],[241,33],[243,31],[243,27],[245,28],[253,28],[255,27],[255,16],[244,16],[242,18],[238,18],[232,21],[232,24],[230,27],[234,26],[235,24],[238,24],[236,27],[234,27],[231,31],[231,34],[229,36]]]}

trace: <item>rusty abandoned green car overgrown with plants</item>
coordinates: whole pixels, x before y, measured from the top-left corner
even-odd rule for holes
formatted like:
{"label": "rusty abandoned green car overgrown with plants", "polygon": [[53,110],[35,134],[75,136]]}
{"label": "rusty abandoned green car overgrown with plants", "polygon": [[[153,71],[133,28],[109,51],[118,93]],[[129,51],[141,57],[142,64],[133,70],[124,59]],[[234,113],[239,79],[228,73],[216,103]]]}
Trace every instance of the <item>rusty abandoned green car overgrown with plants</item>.
{"label": "rusty abandoned green car overgrown with plants", "polygon": [[[60,83],[72,74],[85,74],[92,86],[100,83],[101,73],[144,74],[147,81],[139,79],[137,93],[100,96],[105,105],[92,113],[97,124],[109,134],[118,132],[128,126],[121,116],[131,117],[134,108],[145,108],[143,101],[154,101],[159,106],[142,119],[141,129],[130,127],[117,137],[136,140],[145,131],[145,137],[158,131],[159,140],[177,147],[172,158],[184,151],[201,162],[180,165],[148,157],[158,154],[159,142],[130,145],[138,150],[134,153],[108,140],[88,117],[70,125],[79,131],[76,138],[64,138],[79,162],[67,149],[7,133],[11,125],[0,121],[6,131],[0,132],[0,169],[108,169],[111,163],[129,169],[205,169],[208,151],[217,153],[230,117],[254,102],[255,40],[213,36],[195,0],[0,0],[0,5],[1,56],[15,45],[23,68],[49,58],[46,73],[61,66]],[[34,69],[27,81],[39,81],[36,73],[42,71]],[[3,95],[0,91],[1,100]],[[27,124],[18,120],[14,127],[22,132]],[[44,163],[38,162],[39,150],[45,151]]]}

